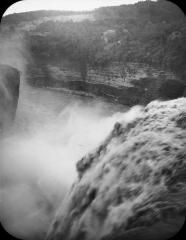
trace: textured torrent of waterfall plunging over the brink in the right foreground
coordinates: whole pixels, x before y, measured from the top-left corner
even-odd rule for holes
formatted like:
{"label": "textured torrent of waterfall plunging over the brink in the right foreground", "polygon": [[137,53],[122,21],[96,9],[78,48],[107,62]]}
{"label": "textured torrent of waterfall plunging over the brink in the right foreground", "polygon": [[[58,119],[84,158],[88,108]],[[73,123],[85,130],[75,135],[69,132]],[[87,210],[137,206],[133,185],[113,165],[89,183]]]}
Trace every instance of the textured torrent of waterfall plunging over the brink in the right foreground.
{"label": "textured torrent of waterfall plunging over the brink in the right foreground", "polygon": [[116,123],[77,171],[47,240],[174,236],[186,214],[186,98],[151,102]]}

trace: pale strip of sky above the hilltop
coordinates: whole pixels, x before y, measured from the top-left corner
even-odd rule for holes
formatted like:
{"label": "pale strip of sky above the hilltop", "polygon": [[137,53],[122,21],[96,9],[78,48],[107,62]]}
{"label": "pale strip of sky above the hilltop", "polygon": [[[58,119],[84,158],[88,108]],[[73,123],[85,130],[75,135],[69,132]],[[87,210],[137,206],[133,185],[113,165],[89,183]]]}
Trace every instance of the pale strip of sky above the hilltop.
{"label": "pale strip of sky above the hilltop", "polygon": [[92,10],[102,6],[132,4],[139,0],[22,0],[11,5],[4,15],[36,10]]}

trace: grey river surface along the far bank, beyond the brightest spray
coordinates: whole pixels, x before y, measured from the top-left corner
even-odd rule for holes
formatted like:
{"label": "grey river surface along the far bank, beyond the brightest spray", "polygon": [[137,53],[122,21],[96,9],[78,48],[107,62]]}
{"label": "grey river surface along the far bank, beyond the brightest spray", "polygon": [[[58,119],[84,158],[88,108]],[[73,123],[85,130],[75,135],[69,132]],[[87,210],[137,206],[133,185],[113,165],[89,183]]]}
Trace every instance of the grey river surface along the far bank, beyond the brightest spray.
{"label": "grey river surface along the far bank, beyond the brightest spray", "polygon": [[101,98],[72,95],[60,90],[32,88],[22,84],[14,127],[20,132],[29,129],[33,131],[34,128],[55,121],[64,109],[72,105],[85,107],[102,117],[109,117],[128,109],[127,106],[107,102]]}

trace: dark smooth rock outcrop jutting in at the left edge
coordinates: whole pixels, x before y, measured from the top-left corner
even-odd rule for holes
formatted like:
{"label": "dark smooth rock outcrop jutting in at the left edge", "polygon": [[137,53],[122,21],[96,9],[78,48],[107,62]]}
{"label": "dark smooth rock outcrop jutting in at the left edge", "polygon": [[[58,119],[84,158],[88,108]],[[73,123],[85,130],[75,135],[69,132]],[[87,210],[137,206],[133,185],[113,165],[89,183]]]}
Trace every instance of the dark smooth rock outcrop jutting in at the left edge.
{"label": "dark smooth rock outcrop jutting in at the left edge", "polygon": [[0,64],[0,130],[14,120],[19,97],[20,73],[17,69]]}

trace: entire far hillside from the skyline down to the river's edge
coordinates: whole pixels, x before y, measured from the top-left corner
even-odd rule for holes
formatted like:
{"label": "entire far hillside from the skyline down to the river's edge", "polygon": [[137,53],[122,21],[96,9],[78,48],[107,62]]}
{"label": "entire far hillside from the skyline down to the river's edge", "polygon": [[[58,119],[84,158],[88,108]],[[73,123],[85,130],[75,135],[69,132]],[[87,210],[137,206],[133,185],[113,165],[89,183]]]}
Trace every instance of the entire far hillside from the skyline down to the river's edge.
{"label": "entire far hillside from the skyline down to the river's edge", "polygon": [[169,1],[11,14],[2,23],[2,36],[23,37],[32,86],[130,106],[183,96],[185,15]]}

